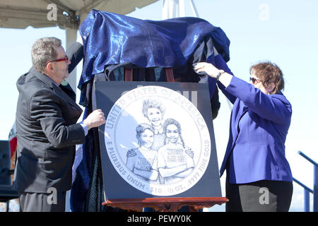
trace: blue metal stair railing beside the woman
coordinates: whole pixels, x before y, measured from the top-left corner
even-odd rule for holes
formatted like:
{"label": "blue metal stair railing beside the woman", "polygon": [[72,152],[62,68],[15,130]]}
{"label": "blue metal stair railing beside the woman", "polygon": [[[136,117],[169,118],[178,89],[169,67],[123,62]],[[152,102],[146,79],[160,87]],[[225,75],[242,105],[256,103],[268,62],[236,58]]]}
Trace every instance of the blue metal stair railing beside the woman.
{"label": "blue metal stair railing beside the woman", "polygon": [[312,193],[314,195],[314,212],[318,212],[318,164],[300,150],[298,151],[298,154],[300,154],[302,157],[305,157],[306,160],[314,165],[314,189],[312,190],[305,184],[302,184],[302,182],[300,182],[298,179],[295,179],[295,177],[293,177],[293,181],[304,188],[304,211],[310,211],[310,193]]}

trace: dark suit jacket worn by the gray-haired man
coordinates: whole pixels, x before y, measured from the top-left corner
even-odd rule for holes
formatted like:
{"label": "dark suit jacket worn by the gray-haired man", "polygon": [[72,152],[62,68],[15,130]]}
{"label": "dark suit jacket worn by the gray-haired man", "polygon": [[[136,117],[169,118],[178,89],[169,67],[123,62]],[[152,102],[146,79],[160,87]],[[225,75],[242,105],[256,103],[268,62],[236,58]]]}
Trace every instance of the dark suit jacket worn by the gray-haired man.
{"label": "dark suit jacket worn by the gray-haired man", "polygon": [[[72,71],[83,58],[83,46],[73,44],[66,54]],[[18,138],[14,186],[18,191],[47,193],[49,188],[71,188],[75,145],[85,141],[76,124],[82,109],[70,87],[61,90],[48,76],[30,69],[17,81]]]}

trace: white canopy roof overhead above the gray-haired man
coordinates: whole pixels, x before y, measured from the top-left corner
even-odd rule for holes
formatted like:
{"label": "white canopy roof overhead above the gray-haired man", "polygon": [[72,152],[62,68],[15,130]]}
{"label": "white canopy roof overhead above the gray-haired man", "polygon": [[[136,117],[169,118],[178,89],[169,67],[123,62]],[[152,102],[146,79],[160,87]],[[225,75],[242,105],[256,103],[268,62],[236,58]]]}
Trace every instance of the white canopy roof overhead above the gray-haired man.
{"label": "white canopy roof overhead above the gray-haired man", "polygon": [[[158,0],[1,0],[0,28],[66,30],[66,49],[76,41],[77,30],[92,8],[125,15]],[[76,92],[76,70],[66,79]]]}

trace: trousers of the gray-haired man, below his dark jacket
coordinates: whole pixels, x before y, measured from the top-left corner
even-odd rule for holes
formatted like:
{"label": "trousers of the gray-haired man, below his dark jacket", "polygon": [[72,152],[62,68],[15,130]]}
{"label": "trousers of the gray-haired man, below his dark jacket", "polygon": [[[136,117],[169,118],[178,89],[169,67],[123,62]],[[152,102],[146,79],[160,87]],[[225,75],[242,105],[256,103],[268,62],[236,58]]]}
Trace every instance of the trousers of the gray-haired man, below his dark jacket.
{"label": "trousers of the gray-haired man, below his dark jacket", "polygon": [[22,212],[65,212],[66,191],[56,194],[19,192]]}

